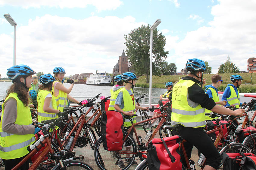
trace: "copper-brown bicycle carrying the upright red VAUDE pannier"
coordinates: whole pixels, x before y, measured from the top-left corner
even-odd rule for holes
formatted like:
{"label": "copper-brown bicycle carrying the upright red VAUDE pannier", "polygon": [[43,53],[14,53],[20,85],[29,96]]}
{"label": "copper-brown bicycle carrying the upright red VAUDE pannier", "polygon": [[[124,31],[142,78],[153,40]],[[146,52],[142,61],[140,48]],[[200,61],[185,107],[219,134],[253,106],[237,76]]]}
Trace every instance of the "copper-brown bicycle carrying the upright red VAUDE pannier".
{"label": "copper-brown bicycle carrying the upright red VAUDE pannier", "polygon": [[[161,109],[161,107],[164,106],[160,106],[159,108],[149,108],[149,111],[154,111],[155,109]],[[165,122],[165,118],[164,115],[158,115],[154,118],[149,118],[143,121],[140,121],[138,123],[133,123],[133,116],[137,116],[132,115],[132,116],[126,116],[124,115],[124,118],[129,119],[132,126],[127,130],[123,132],[123,149],[121,151],[106,151],[103,148],[103,139],[101,138],[101,136],[96,140],[95,142],[95,151],[94,151],[94,158],[96,161],[96,164],[98,165],[98,167],[100,169],[119,169],[116,165],[118,164],[118,161],[120,159],[125,159],[125,158],[130,158],[130,162],[127,163],[127,165],[125,166],[125,168],[123,168],[123,170],[126,170],[128,168],[130,168],[130,166],[132,165],[133,161],[135,160],[135,157],[139,157],[139,160],[143,160],[144,158],[142,157],[142,154],[139,151],[145,151],[147,150],[147,146],[149,141],[151,141],[156,133],[158,133],[158,130],[160,129],[161,125]],[[142,136],[138,136],[137,132],[136,132],[136,128],[135,126],[138,124],[142,124],[146,121],[151,121],[153,119],[158,119],[159,117],[163,117],[163,119],[160,121],[160,124],[158,124],[158,126],[156,127],[156,129],[154,130],[154,132],[151,134],[149,139],[146,142],[146,144],[144,142],[142,142]],[[131,130],[134,130],[134,134],[136,136],[136,142],[138,143],[138,145],[136,145],[136,142],[133,139],[133,136],[130,135]],[[145,139],[144,139],[145,140]],[[130,156],[131,155],[131,156]]]}

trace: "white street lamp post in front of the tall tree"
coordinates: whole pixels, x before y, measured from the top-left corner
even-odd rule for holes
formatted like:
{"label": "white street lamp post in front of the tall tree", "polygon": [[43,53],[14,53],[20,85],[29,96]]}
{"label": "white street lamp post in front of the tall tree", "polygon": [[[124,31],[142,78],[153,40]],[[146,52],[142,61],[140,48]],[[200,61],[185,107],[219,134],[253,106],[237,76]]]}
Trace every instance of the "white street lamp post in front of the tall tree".
{"label": "white street lamp post in front of the tall tree", "polygon": [[152,44],[153,44],[153,30],[160,24],[161,19],[157,19],[150,29],[150,68],[149,68],[149,107],[151,107],[151,96],[152,96]]}

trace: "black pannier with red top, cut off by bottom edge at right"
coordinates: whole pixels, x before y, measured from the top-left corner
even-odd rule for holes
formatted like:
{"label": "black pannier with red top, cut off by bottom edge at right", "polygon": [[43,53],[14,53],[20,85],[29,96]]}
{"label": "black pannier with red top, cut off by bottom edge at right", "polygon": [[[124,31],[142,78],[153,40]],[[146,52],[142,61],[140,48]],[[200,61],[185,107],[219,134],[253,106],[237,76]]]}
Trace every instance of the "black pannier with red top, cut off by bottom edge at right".
{"label": "black pannier with red top, cut off by bottom edge at right", "polygon": [[239,170],[240,160],[243,157],[252,156],[251,153],[223,153],[222,163],[223,170]]}

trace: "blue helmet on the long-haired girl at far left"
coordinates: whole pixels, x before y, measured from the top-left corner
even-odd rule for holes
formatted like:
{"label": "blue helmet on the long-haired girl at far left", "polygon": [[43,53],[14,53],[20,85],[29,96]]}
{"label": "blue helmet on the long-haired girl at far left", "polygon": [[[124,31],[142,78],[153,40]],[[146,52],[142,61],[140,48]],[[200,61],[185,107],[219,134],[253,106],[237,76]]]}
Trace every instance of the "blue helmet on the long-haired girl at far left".
{"label": "blue helmet on the long-haired girl at far left", "polygon": [[12,80],[12,82],[15,82],[16,79],[19,77],[27,77],[32,74],[36,74],[36,72],[34,70],[32,70],[27,65],[23,65],[23,64],[12,66],[12,67],[8,68],[7,70],[8,71],[6,74],[7,74],[8,78]]}

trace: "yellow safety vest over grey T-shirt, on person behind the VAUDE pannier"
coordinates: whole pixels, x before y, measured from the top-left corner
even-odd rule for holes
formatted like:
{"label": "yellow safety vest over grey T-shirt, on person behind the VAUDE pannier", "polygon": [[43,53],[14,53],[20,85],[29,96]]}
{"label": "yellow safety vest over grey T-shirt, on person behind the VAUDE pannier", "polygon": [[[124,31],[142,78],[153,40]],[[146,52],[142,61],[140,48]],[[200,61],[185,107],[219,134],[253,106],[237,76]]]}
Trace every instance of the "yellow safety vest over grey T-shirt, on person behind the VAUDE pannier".
{"label": "yellow safety vest over grey T-shirt, on person behind the VAUDE pannier", "polygon": [[[120,92],[121,91],[123,91],[123,104],[124,104],[124,108],[122,110],[125,112],[133,111],[133,113],[135,114],[134,99],[132,99],[129,92],[125,88],[121,88]],[[133,92],[133,89],[131,89],[131,91]],[[133,117],[132,120],[133,120],[133,123],[136,123],[136,117]],[[131,121],[129,119],[124,119],[123,127],[130,127],[130,126],[132,126]]]}

